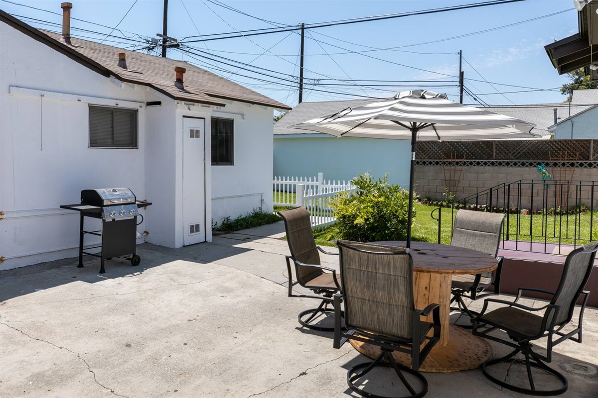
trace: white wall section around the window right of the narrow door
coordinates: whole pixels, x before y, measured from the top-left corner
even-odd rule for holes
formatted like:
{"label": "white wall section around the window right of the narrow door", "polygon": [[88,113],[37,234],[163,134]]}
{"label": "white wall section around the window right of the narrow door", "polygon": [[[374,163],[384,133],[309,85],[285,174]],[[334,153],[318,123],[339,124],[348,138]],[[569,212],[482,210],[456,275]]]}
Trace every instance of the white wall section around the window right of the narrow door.
{"label": "white wall section around the window right of the narrow door", "polygon": [[234,164],[211,166],[212,219],[221,223],[254,209],[272,211],[273,109],[234,102],[212,116],[234,119]]}

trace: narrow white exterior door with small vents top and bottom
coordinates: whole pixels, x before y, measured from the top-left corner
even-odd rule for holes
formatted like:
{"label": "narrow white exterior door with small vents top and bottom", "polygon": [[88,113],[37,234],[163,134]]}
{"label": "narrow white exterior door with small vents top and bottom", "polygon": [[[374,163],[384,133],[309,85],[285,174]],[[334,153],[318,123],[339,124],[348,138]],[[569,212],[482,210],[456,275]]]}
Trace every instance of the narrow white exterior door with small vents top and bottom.
{"label": "narrow white exterior door with small vents top and bottom", "polygon": [[183,228],[183,245],[206,241],[206,119],[203,118],[183,118]]}

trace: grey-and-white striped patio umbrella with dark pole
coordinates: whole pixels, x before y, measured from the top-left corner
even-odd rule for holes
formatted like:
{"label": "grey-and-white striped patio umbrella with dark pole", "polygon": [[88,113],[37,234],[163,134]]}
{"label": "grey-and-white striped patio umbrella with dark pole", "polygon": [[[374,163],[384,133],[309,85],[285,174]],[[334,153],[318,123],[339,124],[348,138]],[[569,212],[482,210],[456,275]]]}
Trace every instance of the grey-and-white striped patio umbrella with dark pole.
{"label": "grey-and-white striped patio umbrella with dark pole", "polygon": [[292,127],[336,137],[411,140],[407,248],[411,246],[413,175],[417,141],[533,138],[534,124],[486,109],[454,103],[446,94],[403,91],[394,98],[346,108]]}

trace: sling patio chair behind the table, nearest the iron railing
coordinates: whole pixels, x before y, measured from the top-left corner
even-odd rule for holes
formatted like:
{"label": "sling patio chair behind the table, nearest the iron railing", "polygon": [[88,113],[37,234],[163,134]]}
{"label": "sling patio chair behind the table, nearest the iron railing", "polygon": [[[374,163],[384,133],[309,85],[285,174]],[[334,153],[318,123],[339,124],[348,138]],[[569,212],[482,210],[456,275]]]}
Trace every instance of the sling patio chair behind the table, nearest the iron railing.
{"label": "sling patio chair behind the table, nearest the iron railing", "polygon": [[[498,244],[501,240],[502,222],[505,214],[487,213],[481,211],[459,210],[454,219],[453,237],[451,246],[458,246],[466,249],[473,249],[490,254],[496,257]],[[469,319],[476,316],[474,311],[469,310],[463,297],[471,300],[497,295],[501,290],[502,256],[496,257],[498,267],[488,273],[477,275],[453,276],[451,280],[451,304],[456,303],[457,307],[451,310],[465,313]],[[485,289],[493,286],[493,292],[481,294]],[[462,328],[471,328],[468,325],[457,324]]]}

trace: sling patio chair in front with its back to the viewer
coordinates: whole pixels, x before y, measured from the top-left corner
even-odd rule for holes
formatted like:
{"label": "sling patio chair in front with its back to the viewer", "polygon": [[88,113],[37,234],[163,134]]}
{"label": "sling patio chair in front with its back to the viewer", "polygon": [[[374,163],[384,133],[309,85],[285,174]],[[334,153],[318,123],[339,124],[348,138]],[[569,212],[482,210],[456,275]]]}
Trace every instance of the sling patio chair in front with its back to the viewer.
{"label": "sling patio chair in front with its back to the viewer", "polygon": [[[402,391],[397,393],[408,391],[405,397],[423,397],[428,393],[428,381],[417,370],[440,339],[440,306],[430,304],[423,310],[415,308],[411,254],[405,248],[347,240],[338,240],[337,245],[342,294],[334,295],[334,348],[354,340],[376,345],[381,351],[373,362],[349,369],[347,384],[362,397],[383,397],[371,392],[371,388],[365,391],[370,387],[364,382],[365,375],[376,366],[390,366],[401,380],[396,386]],[[344,302],[344,328],[340,319],[341,301]],[[434,322],[421,319],[430,313]],[[428,336],[431,330],[432,335]],[[411,368],[397,363],[393,351],[409,354]],[[410,374],[411,382],[419,385],[413,387],[403,372]]]}

